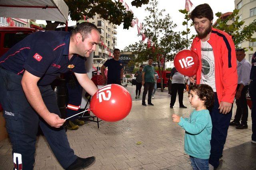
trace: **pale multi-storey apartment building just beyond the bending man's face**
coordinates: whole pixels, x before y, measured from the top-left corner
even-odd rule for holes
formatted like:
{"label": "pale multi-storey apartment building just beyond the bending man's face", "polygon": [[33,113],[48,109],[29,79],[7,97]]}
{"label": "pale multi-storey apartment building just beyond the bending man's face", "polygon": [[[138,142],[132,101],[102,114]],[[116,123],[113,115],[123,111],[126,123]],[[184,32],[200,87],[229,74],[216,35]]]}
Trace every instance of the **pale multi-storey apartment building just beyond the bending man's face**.
{"label": "pale multi-storey apartment building just beyond the bending man's face", "polygon": [[113,50],[116,48],[117,31],[116,25],[110,23],[110,21],[100,18],[99,14],[96,14],[93,18],[88,19],[89,22],[95,24],[100,31],[101,42],[94,51],[94,58],[112,58]]}

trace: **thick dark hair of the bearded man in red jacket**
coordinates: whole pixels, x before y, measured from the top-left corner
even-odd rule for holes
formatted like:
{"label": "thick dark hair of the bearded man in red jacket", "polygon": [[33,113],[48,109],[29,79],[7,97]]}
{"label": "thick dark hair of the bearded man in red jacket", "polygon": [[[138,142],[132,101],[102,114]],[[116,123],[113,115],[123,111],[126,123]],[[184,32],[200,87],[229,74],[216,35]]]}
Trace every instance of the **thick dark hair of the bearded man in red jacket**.
{"label": "thick dark hair of the bearded man in red jacket", "polygon": [[195,18],[207,18],[208,20],[213,20],[212,8],[208,4],[200,4],[196,6],[192,12],[189,14],[189,18],[194,22]]}

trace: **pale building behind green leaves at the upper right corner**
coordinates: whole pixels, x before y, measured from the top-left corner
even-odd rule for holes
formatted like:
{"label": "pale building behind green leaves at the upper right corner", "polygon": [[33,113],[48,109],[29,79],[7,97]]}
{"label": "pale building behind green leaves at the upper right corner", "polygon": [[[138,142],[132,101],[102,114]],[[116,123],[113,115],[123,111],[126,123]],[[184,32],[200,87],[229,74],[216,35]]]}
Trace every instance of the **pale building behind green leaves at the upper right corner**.
{"label": "pale building behind green leaves at the upper right corner", "polygon": [[[235,8],[239,10],[238,16],[240,21],[244,21],[244,25],[249,25],[256,20],[256,0],[235,0]],[[241,29],[244,27],[242,25]],[[252,36],[256,37],[256,33]],[[256,51],[256,42],[244,41],[240,44],[241,48],[253,47],[253,51],[246,51],[246,59],[252,61],[252,55]]]}

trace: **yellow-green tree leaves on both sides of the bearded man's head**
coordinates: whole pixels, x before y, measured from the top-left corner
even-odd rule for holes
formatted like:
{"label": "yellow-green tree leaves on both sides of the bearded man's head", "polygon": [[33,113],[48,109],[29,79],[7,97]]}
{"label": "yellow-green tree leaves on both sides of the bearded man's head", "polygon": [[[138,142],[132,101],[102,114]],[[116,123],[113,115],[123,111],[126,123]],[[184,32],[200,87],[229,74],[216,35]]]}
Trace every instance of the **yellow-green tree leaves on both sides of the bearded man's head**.
{"label": "yellow-green tree leaves on both sides of the bearded man's head", "polygon": [[[192,21],[188,17],[188,12],[186,10],[179,10],[182,14],[185,15],[182,25],[190,25],[193,26]],[[254,20],[249,25],[244,25],[244,21],[239,21],[238,16],[239,10],[234,9],[233,13],[228,16],[227,18],[222,18],[222,13],[217,12],[215,15],[218,17],[218,20],[216,20],[216,26],[214,28],[220,29],[222,31],[225,31],[229,35],[232,36],[232,39],[234,41],[235,47],[239,48],[239,45],[243,43],[244,41],[250,41],[255,42],[256,38],[252,38],[252,35],[256,32],[256,20]],[[242,28],[242,26],[244,27]],[[190,34],[190,29],[188,28],[185,31],[182,31],[182,35],[188,35]],[[190,44],[191,40],[194,39],[196,35],[192,35],[189,39]],[[253,50],[252,47],[248,47],[250,50]]]}

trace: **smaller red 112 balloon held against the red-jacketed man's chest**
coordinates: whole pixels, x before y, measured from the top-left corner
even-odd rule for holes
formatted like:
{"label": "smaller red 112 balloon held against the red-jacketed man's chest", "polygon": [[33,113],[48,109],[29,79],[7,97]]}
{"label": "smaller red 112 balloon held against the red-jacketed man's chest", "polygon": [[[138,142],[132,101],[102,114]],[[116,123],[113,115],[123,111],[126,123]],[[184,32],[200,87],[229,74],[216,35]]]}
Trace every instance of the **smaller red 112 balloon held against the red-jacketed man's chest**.
{"label": "smaller red 112 balloon held against the red-jacketed man's chest", "polygon": [[184,76],[194,76],[199,67],[198,56],[191,50],[179,51],[174,57],[174,66]]}

